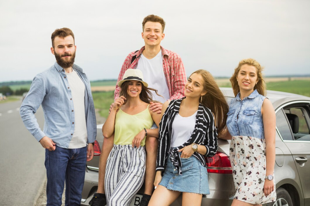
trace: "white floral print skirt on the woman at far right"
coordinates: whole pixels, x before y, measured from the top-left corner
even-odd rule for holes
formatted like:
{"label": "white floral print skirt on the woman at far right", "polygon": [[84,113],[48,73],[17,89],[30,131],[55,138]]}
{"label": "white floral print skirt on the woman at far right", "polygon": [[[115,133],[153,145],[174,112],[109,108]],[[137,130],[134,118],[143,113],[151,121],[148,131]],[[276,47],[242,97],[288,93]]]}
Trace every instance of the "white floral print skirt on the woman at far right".
{"label": "white floral print skirt on the woman at far right", "polygon": [[[234,199],[251,204],[264,204],[276,201],[276,189],[268,196],[265,196],[263,193],[266,177],[265,151],[265,139],[249,136],[232,137],[230,142],[230,161],[237,191]],[[275,179],[273,178],[272,181],[276,188]]]}

